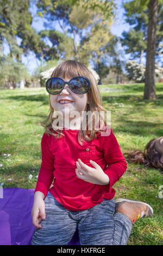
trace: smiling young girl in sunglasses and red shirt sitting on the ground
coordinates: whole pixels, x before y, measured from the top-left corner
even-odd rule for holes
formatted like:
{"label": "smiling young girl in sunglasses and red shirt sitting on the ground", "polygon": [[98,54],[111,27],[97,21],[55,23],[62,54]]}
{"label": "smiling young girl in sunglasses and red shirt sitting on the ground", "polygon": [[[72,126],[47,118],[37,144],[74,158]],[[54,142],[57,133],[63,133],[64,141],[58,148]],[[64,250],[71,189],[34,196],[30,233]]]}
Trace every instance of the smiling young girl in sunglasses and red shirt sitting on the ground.
{"label": "smiling young girl in sunglasses and red shirt sitting on the ground", "polygon": [[[92,129],[89,121],[83,126],[84,111],[106,111],[95,78],[83,64],[66,60],[55,68],[46,90],[50,113],[41,141],[31,245],[67,245],[77,228],[80,245],[126,245],[132,223],[153,210],[142,202],[115,202],[112,186],[127,169],[120,146],[105,118],[102,128],[95,127],[95,118]],[[72,125],[74,111],[78,129]],[[58,128],[56,112],[63,117]]]}

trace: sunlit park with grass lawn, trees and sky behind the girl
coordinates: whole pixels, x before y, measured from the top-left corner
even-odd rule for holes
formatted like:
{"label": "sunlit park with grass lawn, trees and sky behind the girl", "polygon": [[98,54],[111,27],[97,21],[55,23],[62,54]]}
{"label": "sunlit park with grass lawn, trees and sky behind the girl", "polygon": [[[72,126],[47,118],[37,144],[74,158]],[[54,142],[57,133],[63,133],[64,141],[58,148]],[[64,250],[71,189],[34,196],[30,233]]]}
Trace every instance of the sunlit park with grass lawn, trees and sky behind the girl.
{"label": "sunlit park with grass lawn, trees and sky behind the girl", "polygon": [[[95,74],[123,154],[163,136],[162,3],[0,0],[2,187],[35,188],[49,109],[45,82],[65,59]],[[159,169],[129,162],[114,185],[116,197],[154,209],[134,223],[128,245],[162,244],[162,187]]]}

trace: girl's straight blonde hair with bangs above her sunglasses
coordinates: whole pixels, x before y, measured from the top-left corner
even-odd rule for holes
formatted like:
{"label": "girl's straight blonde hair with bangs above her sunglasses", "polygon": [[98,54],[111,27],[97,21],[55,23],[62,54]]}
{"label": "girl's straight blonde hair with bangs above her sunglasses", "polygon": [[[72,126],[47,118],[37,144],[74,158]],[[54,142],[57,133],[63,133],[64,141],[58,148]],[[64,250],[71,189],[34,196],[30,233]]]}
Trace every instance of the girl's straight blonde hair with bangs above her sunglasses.
{"label": "girl's straight blonde hair with bangs above her sunglasses", "polygon": [[[51,77],[61,77],[61,78],[65,78],[65,77],[76,77],[76,76],[84,76],[87,77],[91,83],[91,88],[90,90],[87,92],[87,99],[89,101],[89,103],[86,104],[86,108],[85,111],[91,111],[91,113],[93,113],[94,111],[98,112],[99,114],[99,118],[101,118],[100,116],[100,112],[103,111],[104,113],[106,113],[106,109],[103,108],[102,106],[102,96],[101,93],[99,92],[99,88],[97,86],[95,77],[92,75],[91,71],[89,69],[86,68],[85,65],[83,65],[82,63],[77,62],[76,60],[65,60],[64,62],[61,62],[52,72]],[[45,127],[45,132],[48,135],[53,135],[57,138],[60,138],[61,136],[64,136],[64,134],[61,132],[61,130],[55,130],[57,132],[54,133],[52,130],[52,123],[55,120],[55,118],[53,118],[53,113],[54,113],[55,109],[53,109],[53,107],[51,106],[51,101],[50,101],[50,94],[49,94],[49,115],[47,117],[47,119],[43,122],[41,122],[41,125],[43,127]],[[101,119],[100,119],[101,120]],[[95,121],[95,117],[93,115],[93,122]],[[87,121],[86,121],[87,124]],[[103,119],[103,124],[106,125],[106,120],[105,120],[105,116]],[[95,125],[94,123],[92,124],[92,130],[89,131],[87,130],[87,125],[85,130],[79,130],[78,133],[78,142],[80,145],[83,145],[82,141],[86,140],[86,141],[92,141],[93,138],[97,138],[96,137],[96,132],[101,133],[102,131],[97,129],[96,127],[96,131],[95,131]],[[87,133],[90,134],[90,136],[87,135]]]}

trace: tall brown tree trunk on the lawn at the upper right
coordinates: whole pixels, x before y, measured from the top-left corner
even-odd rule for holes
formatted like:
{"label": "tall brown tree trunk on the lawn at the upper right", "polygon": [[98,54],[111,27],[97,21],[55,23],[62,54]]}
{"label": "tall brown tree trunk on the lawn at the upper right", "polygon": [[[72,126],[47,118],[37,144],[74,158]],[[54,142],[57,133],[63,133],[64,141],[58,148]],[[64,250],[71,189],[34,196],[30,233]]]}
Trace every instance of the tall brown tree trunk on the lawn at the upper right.
{"label": "tall brown tree trunk on the lawn at the upper right", "polygon": [[148,39],[143,99],[156,99],[155,95],[155,51],[158,0],[150,0],[148,5]]}

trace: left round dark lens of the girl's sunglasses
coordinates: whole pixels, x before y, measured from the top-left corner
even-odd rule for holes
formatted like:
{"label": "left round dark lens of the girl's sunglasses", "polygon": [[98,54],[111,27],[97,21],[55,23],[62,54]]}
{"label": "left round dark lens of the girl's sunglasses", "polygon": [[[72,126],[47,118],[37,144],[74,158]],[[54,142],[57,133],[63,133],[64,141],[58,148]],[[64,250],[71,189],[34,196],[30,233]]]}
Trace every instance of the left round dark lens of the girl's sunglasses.
{"label": "left round dark lens of the girl's sunglasses", "polygon": [[47,81],[47,89],[51,94],[60,93],[63,87],[64,82],[60,78],[50,78],[49,81]]}

